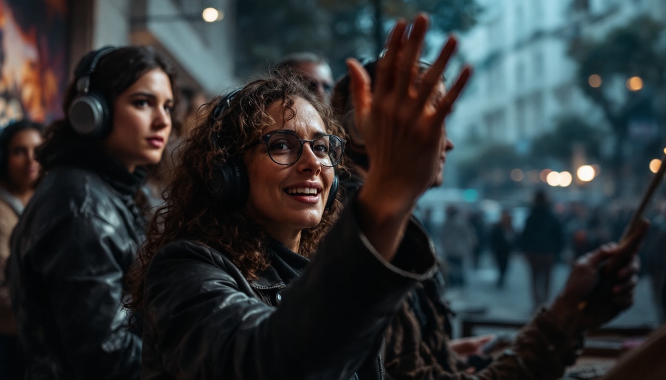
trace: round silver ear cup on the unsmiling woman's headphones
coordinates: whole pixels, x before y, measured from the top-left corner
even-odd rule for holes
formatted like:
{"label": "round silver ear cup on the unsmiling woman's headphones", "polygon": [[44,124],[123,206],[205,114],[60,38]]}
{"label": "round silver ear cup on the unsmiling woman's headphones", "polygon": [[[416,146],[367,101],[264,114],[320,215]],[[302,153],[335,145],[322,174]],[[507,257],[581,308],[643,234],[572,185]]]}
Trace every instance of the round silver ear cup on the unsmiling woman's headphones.
{"label": "round silver ear cup on the unsmiling woman's headphones", "polygon": [[103,138],[111,132],[106,99],[97,91],[77,96],[69,106],[69,122],[81,136]]}

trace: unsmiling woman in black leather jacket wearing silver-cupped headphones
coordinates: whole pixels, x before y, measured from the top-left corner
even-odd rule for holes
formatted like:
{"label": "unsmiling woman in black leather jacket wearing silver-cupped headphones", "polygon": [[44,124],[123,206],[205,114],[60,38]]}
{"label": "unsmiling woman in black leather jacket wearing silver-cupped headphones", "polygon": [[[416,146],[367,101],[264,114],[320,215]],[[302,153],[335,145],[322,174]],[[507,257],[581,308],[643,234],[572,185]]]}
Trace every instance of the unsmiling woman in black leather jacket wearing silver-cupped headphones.
{"label": "unsmiling woman in black leather jacket wearing silver-cupped headphones", "polygon": [[174,71],[150,48],[104,47],[77,64],[11,238],[26,379],[139,379],[141,335],[121,299],[145,240],[135,196],[143,166],[162,158],[174,96]]}

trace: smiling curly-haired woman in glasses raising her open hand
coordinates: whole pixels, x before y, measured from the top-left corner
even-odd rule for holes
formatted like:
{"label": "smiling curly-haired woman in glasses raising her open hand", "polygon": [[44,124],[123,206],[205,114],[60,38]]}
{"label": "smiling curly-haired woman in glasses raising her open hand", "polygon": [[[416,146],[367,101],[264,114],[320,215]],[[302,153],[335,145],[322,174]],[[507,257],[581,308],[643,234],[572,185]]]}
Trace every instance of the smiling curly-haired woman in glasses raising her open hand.
{"label": "smiling curly-haired woman in glasses raising her open hand", "polygon": [[429,102],[445,51],[414,86],[427,23],[397,23],[374,92],[348,61],[377,164],[342,212],[344,134],[302,79],[259,79],[208,106],[128,274],[129,307],[144,316],[143,378],[383,377],[384,329],[436,270],[410,212],[469,75]]}

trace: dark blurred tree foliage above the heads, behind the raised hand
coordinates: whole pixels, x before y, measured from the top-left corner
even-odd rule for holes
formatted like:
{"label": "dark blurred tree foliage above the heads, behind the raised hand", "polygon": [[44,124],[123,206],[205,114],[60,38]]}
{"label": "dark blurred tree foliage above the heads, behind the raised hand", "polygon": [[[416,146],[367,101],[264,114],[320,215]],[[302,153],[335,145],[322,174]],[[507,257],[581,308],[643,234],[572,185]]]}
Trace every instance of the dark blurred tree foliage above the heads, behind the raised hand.
{"label": "dark blurred tree foliage above the heads, behind the raised hand", "polygon": [[476,0],[238,1],[236,75],[263,73],[287,53],[313,51],[338,76],[347,57],[376,55],[394,21],[418,11],[430,13],[432,31],[448,33],[472,27],[481,8]]}

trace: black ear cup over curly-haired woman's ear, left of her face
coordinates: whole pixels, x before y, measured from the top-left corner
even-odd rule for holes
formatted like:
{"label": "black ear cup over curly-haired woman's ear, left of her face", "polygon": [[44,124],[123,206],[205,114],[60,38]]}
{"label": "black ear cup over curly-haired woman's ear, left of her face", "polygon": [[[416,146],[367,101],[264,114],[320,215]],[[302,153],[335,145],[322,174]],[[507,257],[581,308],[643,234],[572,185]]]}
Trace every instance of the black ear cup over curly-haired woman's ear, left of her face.
{"label": "black ear cup over curly-haired woman's ear, left of her face", "polygon": [[230,208],[242,208],[247,201],[250,184],[245,165],[238,159],[231,159],[215,170],[208,184],[214,198]]}

